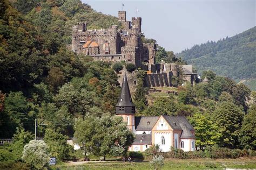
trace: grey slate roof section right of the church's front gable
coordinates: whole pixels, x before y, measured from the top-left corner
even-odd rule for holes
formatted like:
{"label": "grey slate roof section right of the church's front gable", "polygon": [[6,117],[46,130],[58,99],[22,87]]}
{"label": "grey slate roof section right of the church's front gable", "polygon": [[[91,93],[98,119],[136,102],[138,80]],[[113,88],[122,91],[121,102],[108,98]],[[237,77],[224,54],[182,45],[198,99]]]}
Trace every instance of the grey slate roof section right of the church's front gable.
{"label": "grey slate roof section right of the church's front gable", "polygon": [[163,115],[165,120],[170,124],[171,128],[174,130],[183,130],[182,126],[185,123],[187,128],[189,130],[194,131],[193,126],[190,124],[190,122],[187,121],[185,116],[167,116]]}

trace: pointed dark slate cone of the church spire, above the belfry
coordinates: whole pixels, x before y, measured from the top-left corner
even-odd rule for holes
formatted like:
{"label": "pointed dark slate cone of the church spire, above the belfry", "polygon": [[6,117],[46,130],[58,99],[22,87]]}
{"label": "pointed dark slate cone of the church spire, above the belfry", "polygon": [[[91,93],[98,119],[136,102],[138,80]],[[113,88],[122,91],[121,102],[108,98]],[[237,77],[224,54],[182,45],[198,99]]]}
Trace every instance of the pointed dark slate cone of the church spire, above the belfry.
{"label": "pointed dark slate cone of the church spire, above the belfry", "polygon": [[119,100],[116,104],[116,107],[135,107],[135,105],[132,103],[132,97],[127,82],[126,74],[124,74],[121,93],[119,96]]}

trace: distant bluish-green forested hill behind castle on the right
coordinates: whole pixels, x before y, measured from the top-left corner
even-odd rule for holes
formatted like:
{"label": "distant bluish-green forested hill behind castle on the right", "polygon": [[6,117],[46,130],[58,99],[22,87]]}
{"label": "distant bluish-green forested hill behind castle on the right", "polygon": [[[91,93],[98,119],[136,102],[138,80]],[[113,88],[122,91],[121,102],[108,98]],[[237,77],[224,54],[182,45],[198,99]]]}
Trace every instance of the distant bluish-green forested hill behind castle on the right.
{"label": "distant bluish-green forested hill behind castle on the right", "polygon": [[177,56],[196,65],[199,73],[210,69],[232,79],[255,78],[256,27],[231,38],[195,45]]}

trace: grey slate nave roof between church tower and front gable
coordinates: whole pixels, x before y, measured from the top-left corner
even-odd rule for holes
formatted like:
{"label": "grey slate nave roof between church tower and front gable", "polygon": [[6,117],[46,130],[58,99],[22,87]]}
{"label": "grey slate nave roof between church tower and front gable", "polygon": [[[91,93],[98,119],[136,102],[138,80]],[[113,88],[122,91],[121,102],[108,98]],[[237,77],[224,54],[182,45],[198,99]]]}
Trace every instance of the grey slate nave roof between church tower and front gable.
{"label": "grey slate nave roof between church tower and front gable", "polygon": [[157,123],[159,116],[135,117],[135,129],[139,131],[150,131]]}

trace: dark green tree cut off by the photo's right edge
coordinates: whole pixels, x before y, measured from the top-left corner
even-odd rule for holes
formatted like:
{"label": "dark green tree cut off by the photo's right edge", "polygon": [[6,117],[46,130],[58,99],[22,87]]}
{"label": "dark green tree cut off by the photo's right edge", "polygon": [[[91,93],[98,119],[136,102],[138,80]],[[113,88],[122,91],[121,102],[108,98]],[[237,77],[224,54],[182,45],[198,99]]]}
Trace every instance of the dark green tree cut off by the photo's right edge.
{"label": "dark green tree cut off by the photo's right edge", "polygon": [[244,117],[244,122],[239,132],[241,146],[246,149],[256,150],[256,104],[249,109]]}

